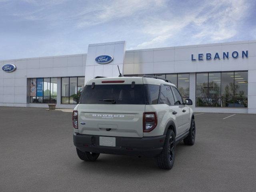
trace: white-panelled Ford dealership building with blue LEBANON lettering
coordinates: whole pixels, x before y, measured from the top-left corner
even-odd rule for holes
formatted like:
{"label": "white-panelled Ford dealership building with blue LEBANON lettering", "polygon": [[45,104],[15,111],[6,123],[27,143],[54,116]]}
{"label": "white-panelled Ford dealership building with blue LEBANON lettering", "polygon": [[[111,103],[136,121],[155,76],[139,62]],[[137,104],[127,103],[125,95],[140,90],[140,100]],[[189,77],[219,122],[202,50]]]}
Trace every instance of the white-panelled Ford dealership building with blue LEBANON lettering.
{"label": "white-panelled Ford dealership building with blue LEBANON lettering", "polygon": [[175,84],[195,112],[256,114],[256,40],[126,50],[90,44],[87,54],[0,61],[0,106],[74,108],[88,79],[149,74]]}

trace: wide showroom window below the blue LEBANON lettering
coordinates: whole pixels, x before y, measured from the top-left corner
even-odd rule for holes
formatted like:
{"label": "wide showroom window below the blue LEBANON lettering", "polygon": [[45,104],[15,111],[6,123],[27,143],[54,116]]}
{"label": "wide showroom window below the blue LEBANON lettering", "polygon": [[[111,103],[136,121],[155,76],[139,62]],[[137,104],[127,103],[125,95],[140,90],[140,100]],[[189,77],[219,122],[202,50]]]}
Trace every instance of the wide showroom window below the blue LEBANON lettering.
{"label": "wide showroom window below the blue LEBANON lettering", "polygon": [[248,72],[196,74],[196,106],[247,107]]}

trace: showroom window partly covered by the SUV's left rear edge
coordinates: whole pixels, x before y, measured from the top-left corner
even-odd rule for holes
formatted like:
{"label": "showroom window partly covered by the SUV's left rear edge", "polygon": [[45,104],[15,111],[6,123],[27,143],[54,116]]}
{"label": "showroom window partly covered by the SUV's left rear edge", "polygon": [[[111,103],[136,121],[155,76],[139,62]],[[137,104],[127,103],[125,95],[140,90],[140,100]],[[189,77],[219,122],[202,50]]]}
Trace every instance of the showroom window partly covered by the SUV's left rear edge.
{"label": "showroom window partly covered by the SUV's left rear edge", "polygon": [[61,78],[61,103],[77,104],[83,88],[84,77]]}

